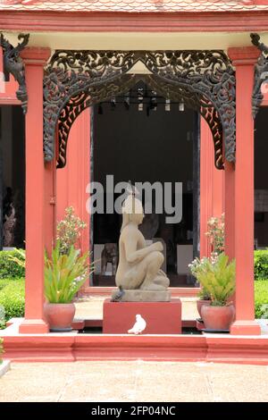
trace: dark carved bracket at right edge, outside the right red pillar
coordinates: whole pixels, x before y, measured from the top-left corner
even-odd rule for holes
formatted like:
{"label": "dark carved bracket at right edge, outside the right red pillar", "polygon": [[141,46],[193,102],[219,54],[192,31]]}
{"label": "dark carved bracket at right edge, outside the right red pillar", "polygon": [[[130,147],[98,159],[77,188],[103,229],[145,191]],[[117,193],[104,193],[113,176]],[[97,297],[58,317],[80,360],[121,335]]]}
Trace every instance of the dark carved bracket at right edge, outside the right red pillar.
{"label": "dark carved bracket at right edge, outside the right red pillar", "polygon": [[264,99],[262,84],[264,81],[268,82],[268,46],[265,46],[262,42],[260,42],[260,36],[258,34],[252,33],[250,34],[250,38],[252,44],[262,53],[255,64],[254,87],[252,94],[252,116],[255,118]]}

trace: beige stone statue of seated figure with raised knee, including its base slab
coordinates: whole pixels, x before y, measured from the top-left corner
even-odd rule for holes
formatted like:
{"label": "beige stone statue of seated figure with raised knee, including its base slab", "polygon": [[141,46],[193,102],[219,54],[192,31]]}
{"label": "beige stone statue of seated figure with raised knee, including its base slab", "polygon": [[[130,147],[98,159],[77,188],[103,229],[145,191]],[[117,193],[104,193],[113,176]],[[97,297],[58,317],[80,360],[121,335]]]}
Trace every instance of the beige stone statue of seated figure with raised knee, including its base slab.
{"label": "beige stone statue of seated figure with raised knee, including its base slab", "polygon": [[[131,193],[122,206],[122,225],[119,239],[119,265],[115,283],[124,293],[121,301],[167,301],[170,284],[163,265],[163,244],[160,241],[147,246],[138,230],[144,218],[140,200]],[[113,291],[112,300],[118,301],[118,290]]]}

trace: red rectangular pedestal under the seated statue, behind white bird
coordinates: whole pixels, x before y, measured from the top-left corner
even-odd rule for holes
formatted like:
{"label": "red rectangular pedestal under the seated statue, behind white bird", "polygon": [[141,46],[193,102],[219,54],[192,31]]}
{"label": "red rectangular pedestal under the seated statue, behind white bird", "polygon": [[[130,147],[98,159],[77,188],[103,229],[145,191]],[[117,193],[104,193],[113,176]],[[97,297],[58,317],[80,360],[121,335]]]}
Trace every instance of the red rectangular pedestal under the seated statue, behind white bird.
{"label": "red rectangular pedestal under the seated statue, behind white bird", "polygon": [[147,322],[143,334],[181,334],[181,302],[111,302],[104,303],[104,334],[127,334],[136,315]]}

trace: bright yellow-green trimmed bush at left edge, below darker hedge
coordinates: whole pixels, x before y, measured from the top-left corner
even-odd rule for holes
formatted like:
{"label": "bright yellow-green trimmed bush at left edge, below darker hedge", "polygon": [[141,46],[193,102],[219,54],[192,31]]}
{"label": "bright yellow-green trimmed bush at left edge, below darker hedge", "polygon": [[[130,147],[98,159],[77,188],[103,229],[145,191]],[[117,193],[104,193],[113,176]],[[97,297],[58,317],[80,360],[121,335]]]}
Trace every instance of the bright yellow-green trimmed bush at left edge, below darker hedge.
{"label": "bright yellow-green trimmed bush at left edge, below darker hedge", "polygon": [[0,305],[4,307],[5,321],[13,317],[24,316],[24,296],[24,279],[9,280],[6,286],[0,290]]}

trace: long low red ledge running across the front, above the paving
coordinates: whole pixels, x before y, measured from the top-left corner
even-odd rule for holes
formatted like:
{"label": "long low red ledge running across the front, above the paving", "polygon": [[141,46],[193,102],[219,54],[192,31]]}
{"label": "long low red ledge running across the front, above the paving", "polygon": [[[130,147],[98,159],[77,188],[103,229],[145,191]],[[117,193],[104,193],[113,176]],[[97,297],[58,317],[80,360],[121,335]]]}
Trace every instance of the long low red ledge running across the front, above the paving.
{"label": "long low red ledge running across the front, above the paving", "polygon": [[17,334],[4,337],[4,350],[12,362],[142,359],[268,365],[267,335]]}

